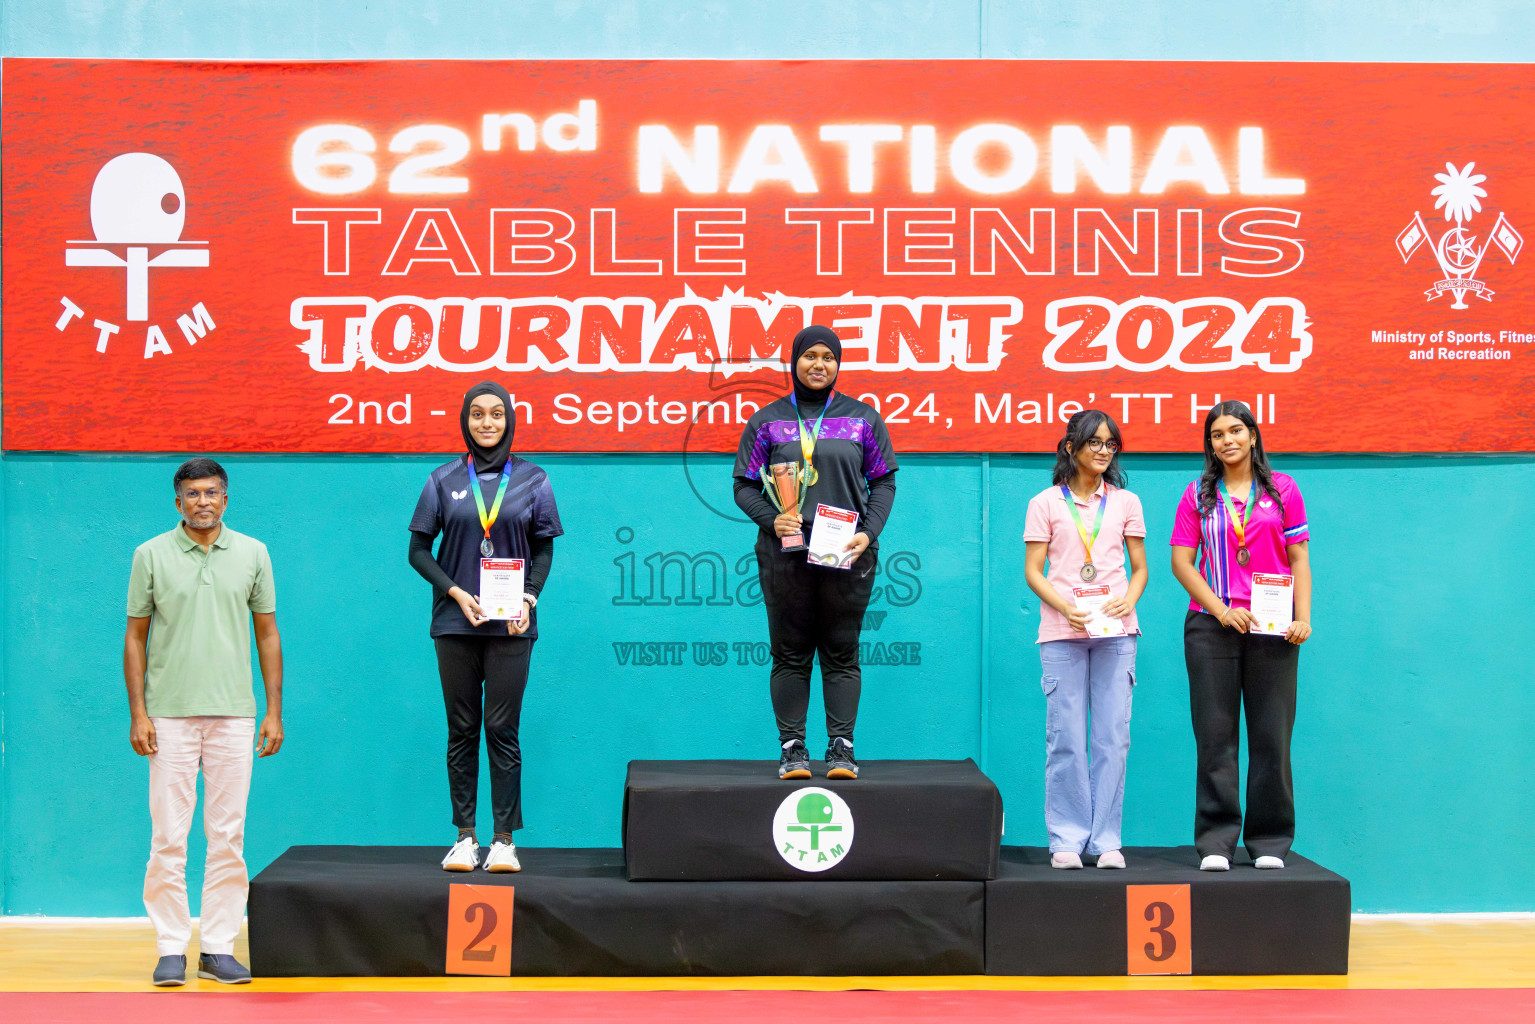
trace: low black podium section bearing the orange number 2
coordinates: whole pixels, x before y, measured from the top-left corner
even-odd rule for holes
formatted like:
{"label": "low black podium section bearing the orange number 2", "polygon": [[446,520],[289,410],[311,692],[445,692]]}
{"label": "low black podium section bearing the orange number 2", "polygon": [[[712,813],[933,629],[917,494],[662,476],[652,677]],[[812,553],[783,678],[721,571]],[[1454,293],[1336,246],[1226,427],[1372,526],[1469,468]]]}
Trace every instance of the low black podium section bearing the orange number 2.
{"label": "low black podium section bearing the orange number 2", "polygon": [[955,975],[984,970],[979,881],[637,883],[614,849],[525,849],[450,874],[442,849],[295,846],[250,883],[258,976],[445,967],[448,886],[514,886],[513,975]]}

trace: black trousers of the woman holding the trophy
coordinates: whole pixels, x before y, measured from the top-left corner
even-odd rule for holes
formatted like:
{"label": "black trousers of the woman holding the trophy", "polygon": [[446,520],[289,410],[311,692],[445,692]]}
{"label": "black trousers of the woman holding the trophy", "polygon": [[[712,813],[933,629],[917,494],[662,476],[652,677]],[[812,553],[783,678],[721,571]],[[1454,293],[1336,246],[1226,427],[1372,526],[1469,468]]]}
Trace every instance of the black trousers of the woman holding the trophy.
{"label": "black trousers of the woman holding the trophy", "polygon": [[772,646],[772,711],[778,742],[804,738],[810,711],[810,665],[821,659],[821,695],[829,738],[853,738],[863,676],[858,633],[873,593],[878,551],[866,550],[850,570],[810,565],[804,551],[783,554],[778,539],[757,534],[757,579],[768,608]]}

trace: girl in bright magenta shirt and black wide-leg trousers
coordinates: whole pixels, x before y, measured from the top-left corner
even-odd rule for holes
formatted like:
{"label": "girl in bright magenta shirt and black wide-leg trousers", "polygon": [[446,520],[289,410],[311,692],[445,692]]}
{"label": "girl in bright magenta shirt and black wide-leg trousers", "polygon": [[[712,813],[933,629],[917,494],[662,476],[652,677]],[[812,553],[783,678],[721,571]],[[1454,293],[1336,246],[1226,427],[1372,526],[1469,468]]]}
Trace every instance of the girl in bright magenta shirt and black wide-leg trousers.
{"label": "girl in bright magenta shirt and black wide-leg trousers", "polygon": [[[1199,749],[1194,849],[1202,870],[1230,870],[1239,837],[1254,867],[1283,867],[1296,840],[1289,734],[1300,645],[1311,636],[1309,539],[1300,488],[1269,468],[1253,411],[1242,402],[1217,404],[1205,416],[1205,471],[1183,491],[1173,524],[1173,576],[1193,599],[1183,660]],[[1254,573],[1294,577],[1294,620],[1285,636],[1253,633]],[[1245,834],[1237,792],[1243,709]]]}

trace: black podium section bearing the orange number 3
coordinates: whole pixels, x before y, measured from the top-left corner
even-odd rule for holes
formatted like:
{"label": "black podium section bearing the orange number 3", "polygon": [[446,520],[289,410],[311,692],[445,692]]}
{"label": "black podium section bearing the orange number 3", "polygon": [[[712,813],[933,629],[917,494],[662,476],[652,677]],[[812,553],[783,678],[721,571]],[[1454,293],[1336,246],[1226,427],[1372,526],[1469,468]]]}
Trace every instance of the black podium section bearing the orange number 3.
{"label": "black podium section bearing the orange number 3", "polygon": [[1348,973],[1349,883],[1291,854],[1257,870],[1199,870],[1191,846],[1127,847],[1124,870],[1058,870],[1039,847],[1004,847],[985,886],[989,975],[1124,975],[1125,886],[1188,884],[1193,973]]}

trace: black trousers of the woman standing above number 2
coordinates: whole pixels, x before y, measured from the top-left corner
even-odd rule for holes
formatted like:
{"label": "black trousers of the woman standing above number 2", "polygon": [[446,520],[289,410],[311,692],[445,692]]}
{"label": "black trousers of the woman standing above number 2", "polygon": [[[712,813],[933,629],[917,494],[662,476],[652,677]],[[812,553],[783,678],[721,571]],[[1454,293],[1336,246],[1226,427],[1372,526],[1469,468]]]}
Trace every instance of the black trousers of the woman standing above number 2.
{"label": "black trousers of the woman standing above number 2", "polygon": [[479,734],[490,752],[490,798],[497,832],[522,827],[522,694],[528,688],[533,640],[523,637],[437,637],[437,674],[448,711],[448,795],[453,824],[474,827],[479,794]]}

